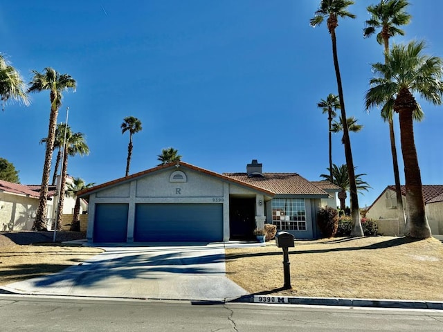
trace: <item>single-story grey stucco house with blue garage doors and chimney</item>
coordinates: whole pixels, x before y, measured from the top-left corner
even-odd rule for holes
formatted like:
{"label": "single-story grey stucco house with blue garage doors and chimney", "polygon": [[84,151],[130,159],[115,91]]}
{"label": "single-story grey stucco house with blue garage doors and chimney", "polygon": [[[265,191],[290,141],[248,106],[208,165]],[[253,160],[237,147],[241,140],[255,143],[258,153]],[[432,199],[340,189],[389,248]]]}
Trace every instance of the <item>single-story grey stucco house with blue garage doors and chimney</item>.
{"label": "single-story grey stucco house with blue garage doors and chimney", "polygon": [[88,241],[163,242],[248,240],[264,223],[314,239],[318,209],[336,206],[338,190],[296,173],[263,173],[257,160],[245,173],[224,174],[179,161],[78,194],[89,199]]}

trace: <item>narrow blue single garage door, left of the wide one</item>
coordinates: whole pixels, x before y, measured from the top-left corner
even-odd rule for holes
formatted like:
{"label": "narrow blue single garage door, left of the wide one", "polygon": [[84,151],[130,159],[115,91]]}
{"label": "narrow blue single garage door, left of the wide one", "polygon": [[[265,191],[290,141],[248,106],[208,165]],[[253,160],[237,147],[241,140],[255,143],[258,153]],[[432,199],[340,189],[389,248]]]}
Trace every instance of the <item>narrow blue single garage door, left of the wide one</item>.
{"label": "narrow blue single garage door, left of the wide one", "polygon": [[96,204],[94,242],[126,242],[128,204]]}

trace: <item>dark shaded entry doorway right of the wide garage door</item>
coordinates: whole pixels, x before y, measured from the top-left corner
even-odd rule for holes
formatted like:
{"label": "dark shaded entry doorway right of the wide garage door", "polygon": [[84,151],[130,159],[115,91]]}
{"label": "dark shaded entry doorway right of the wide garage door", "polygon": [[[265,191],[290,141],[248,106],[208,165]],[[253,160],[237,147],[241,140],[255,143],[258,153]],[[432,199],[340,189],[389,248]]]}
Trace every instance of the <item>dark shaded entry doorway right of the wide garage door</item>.
{"label": "dark shaded entry doorway right of the wide garage door", "polygon": [[255,239],[255,199],[230,199],[229,228],[231,240]]}

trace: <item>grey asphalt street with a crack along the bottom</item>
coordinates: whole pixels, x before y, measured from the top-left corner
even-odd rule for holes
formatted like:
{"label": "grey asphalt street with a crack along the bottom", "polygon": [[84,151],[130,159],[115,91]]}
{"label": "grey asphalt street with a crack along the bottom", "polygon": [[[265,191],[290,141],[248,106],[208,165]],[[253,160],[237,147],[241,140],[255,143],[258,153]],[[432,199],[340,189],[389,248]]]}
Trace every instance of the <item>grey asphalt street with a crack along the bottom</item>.
{"label": "grey asphalt street with a crack along the bottom", "polygon": [[2,332],[443,331],[443,311],[0,295]]}

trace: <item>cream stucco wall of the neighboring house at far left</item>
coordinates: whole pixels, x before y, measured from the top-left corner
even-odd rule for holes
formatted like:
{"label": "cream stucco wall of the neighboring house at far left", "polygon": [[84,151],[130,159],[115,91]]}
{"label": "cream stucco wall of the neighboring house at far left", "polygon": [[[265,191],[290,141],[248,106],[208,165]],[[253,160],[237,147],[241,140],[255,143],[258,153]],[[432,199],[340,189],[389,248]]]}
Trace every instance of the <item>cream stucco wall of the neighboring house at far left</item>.
{"label": "cream stucco wall of the neighboring house at far left", "polygon": [[37,208],[36,198],[0,193],[0,231],[30,230]]}

